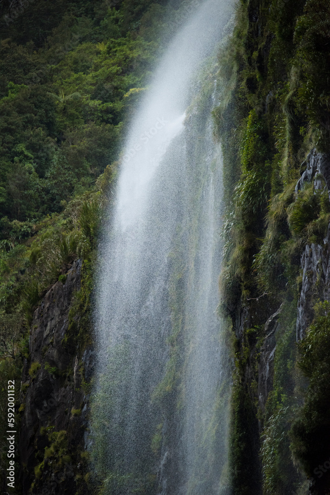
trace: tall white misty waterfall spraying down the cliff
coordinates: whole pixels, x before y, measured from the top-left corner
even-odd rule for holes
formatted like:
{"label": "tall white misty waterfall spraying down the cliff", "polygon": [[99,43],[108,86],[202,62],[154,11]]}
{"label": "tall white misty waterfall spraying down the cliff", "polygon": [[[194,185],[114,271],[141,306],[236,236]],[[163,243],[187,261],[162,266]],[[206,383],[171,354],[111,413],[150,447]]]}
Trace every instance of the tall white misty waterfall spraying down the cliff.
{"label": "tall white misty waterfall spraying down the cliff", "polygon": [[229,366],[216,315],[222,155],[212,141],[214,69],[204,63],[228,14],[225,0],[209,0],[187,20],[121,157],[95,297],[102,495],[230,493]]}

